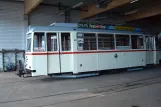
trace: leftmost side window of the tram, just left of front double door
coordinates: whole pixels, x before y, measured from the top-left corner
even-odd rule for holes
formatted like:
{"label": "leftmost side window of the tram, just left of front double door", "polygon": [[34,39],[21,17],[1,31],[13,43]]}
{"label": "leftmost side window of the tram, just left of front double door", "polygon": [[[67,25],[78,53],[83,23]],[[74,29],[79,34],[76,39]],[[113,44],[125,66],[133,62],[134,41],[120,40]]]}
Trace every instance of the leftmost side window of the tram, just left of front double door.
{"label": "leftmost side window of the tram, just left of front double door", "polygon": [[45,51],[45,35],[44,33],[34,33],[34,51]]}

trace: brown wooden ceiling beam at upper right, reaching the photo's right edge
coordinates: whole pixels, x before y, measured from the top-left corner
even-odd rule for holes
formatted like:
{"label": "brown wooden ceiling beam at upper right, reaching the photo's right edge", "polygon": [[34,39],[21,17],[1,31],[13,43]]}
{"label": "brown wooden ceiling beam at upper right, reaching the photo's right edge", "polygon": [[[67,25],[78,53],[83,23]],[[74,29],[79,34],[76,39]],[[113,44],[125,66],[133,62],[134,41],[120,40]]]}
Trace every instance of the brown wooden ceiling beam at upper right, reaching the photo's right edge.
{"label": "brown wooden ceiling beam at upper right, reaching the photo's right edge", "polygon": [[123,17],[123,20],[126,22],[143,19],[151,16],[156,16],[161,14],[161,6],[155,6],[150,8],[145,8],[138,10],[136,13]]}

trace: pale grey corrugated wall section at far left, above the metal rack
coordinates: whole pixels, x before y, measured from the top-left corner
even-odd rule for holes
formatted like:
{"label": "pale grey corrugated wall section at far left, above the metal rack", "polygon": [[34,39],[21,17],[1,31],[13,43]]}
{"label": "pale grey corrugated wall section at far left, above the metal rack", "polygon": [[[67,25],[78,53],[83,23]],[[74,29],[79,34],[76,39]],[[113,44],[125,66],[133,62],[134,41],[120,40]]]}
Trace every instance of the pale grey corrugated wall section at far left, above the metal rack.
{"label": "pale grey corrugated wall section at far left, above the metal rack", "polygon": [[0,50],[24,49],[24,5],[0,1]]}

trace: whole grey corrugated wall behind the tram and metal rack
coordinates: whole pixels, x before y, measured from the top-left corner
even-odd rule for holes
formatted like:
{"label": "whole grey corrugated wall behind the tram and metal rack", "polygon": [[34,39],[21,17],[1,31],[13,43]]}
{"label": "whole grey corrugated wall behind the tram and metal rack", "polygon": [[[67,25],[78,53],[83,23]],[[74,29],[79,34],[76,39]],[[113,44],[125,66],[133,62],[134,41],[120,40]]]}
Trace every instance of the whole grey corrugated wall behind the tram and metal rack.
{"label": "whole grey corrugated wall behind the tram and metal rack", "polygon": [[[25,33],[28,23],[30,25],[47,26],[53,22],[65,21],[65,16],[56,15],[60,11],[58,7],[51,5],[40,5],[30,15],[29,18],[24,17],[24,3],[0,0],[0,50],[2,49],[25,49]],[[79,21],[79,11],[71,11],[71,22]],[[18,54],[17,59],[23,60],[23,55]],[[15,55],[8,53],[5,55],[4,61],[15,62]],[[2,66],[2,54],[0,53],[0,70]]]}

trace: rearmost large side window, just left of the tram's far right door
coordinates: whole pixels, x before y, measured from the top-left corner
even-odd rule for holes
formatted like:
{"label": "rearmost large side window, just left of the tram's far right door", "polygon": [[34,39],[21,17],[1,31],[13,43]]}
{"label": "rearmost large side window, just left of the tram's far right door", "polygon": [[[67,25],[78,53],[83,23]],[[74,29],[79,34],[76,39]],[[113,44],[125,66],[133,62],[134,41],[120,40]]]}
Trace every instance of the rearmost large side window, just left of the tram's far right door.
{"label": "rearmost large side window, just left of the tram's far right door", "polygon": [[131,35],[132,49],[144,49],[144,42],[142,35]]}

